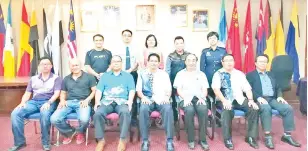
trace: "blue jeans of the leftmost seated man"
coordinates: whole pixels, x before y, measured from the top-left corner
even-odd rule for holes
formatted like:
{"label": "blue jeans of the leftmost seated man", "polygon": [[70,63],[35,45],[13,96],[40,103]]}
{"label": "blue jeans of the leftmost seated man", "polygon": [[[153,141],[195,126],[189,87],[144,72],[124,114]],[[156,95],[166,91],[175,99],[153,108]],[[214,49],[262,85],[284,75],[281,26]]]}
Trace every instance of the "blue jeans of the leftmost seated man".
{"label": "blue jeans of the leftmost seated man", "polygon": [[50,145],[50,116],[57,107],[57,103],[52,103],[49,110],[40,111],[40,108],[48,100],[29,100],[24,108],[15,108],[11,113],[12,131],[14,135],[14,145],[19,146],[26,143],[24,135],[24,118],[34,113],[41,113],[40,125],[42,133],[42,144]]}

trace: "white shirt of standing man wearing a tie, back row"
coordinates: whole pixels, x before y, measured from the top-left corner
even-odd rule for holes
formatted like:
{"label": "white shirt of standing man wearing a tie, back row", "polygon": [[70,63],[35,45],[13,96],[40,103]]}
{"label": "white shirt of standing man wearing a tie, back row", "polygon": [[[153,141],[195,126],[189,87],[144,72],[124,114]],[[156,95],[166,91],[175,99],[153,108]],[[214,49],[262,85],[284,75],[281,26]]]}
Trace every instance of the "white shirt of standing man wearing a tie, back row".
{"label": "white shirt of standing man wearing a tie, back row", "polygon": [[129,49],[130,54],[130,66],[131,68],[134,67],[138,63],[139,55],[136,50],[131,46],[125,46],[124,44],[117,47],[115,50],[112,51],[112,55],[118,55],[122,58],[122,69],[125,71],[126,69],[126,47]]}

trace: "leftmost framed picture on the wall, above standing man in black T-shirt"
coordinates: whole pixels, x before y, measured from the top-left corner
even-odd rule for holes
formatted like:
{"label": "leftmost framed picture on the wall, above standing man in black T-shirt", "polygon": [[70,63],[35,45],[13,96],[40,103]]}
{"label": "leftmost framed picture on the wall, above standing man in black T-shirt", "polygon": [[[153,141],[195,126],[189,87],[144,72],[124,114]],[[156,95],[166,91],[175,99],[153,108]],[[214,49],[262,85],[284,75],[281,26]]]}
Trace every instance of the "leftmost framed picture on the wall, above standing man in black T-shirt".
{"label": "leftmost framed picture on the wall, above standing man in black T-shirt", "polygon": [[82,32],[96,32],[98,29],[97,13],[93,10],[81,10],[81,28]]}

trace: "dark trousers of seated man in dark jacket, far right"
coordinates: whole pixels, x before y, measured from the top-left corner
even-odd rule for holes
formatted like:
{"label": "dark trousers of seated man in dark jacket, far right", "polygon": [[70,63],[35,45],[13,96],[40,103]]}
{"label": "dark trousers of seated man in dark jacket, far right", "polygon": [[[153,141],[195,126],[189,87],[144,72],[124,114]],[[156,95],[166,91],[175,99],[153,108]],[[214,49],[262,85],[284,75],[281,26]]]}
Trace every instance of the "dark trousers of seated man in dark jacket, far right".
{"label": "dark trousers of seated man in dark jacket, far right", "polygon": [[268,104],[258,104],[260,108],[260,118],[263,130],[265,132],[272,131],[272,108],[277,110],[282,117],[283,128],[285,132],[294,130],[294,113],[293,108],[289,104],[278,102],[274,98],[265,98]]}

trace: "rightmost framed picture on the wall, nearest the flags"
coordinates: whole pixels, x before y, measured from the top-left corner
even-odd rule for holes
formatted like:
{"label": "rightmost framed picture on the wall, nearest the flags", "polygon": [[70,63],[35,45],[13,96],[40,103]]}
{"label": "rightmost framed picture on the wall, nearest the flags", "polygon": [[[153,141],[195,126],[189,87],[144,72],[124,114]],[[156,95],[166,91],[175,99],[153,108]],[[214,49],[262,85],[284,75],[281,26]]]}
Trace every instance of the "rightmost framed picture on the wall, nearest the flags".
{"label": "rightmost framed picture on the wall, nearest the flags", "polygon": [[209,13],[207,9],[193,10],[193,31],[207,31],[209,29]]}

